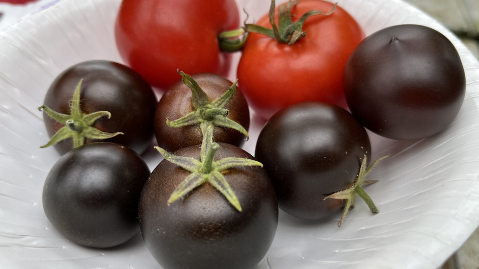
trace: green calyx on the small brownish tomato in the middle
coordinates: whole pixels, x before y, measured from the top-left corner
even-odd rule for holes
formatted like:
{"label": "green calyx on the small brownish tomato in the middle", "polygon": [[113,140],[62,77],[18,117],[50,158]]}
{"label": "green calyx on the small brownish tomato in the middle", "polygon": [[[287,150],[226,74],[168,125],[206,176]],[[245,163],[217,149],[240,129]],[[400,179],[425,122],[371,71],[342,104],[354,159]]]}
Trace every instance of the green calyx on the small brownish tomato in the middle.
{"label": "green calyx on the small brownish tomato in the middle", "polygon": [[242,133],[246,139],[249,139],[248,132],[238,122],[228,119],[228,110],[224,109],[224,106],[233,97],[236,91],[236,84],[238,79],[231,85],[231,87],[219,98],[210,101],[208,95],[201,89],[196,81],[183,71],[178,72],[188,88],[191,89],[191,102],[193,104],[193,111],[186,116],[170,122],[170,119],[166,119],[166,125],[169,127],[182,127],[186,125],[199,124],[203,136],[206,136],[206,132],[209,126],[222,126],[226,128],[232,128]]}

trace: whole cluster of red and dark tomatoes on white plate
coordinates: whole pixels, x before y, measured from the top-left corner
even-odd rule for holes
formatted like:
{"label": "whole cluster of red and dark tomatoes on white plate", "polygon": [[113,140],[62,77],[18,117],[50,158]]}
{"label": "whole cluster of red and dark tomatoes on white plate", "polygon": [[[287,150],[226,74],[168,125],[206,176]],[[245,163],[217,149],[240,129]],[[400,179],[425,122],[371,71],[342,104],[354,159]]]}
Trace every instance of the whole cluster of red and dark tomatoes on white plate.
{"label": "whole cluster of red and dark tomatoes on white plate", "polygon": [[[123,0],[115,37],[129,67],[77,64],[40,107],[45,147],[64,154],[44,209],[73,242],[118,245],[139,228],[165,269],[254,267],[274,238],[278,204],[304,219],[345,207],[338,225],[356,196],[377,213],[362,189],[377,162],[368,167],[364,127],[425,138],[462,105],[457,51],[425,26],[365,38],[336,4],[273,0],[269,14],[239,27],[234,0],[186,2]],[[233,83],[223,76],[235,49]],[[152,86],[167,89],[159,102]],[[249,107],[268,120],[255,157],[240,148]],[[155,136],[165,159],[150,173],[140,154]]]}

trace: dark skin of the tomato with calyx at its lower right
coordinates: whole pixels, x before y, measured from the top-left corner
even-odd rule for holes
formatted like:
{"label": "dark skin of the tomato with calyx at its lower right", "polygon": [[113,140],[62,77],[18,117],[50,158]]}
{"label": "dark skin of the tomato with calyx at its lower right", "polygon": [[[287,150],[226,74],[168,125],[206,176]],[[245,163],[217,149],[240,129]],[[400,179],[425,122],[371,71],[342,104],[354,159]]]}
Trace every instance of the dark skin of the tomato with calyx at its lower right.
{"label": "dark skin of the tomato with calyx at its lower right", "polygon": [[288,106],[261,130],[255,157],[263,163],[279,208],[301,219],[321,219],[344,205],[326,199],[350,187],[364,158],[366,130],[345,109],[325,102]]}

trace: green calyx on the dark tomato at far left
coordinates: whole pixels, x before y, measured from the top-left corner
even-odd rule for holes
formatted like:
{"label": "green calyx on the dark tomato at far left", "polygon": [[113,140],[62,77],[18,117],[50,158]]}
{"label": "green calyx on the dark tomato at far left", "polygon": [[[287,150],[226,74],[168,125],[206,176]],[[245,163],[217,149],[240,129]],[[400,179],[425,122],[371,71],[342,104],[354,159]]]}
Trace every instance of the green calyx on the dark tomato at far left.
{"label": "green calyx on the dark tomato at far left", "polygon": [[97,111],[87,115],[83,114],[80,109],[80,88],[82,81],[83,79],[80,79],[73,94],[71,115],[58,113],[45,105],[38,108],[40,111],[45,111],[52,119],[65,125],[53,135],[47,144],[41,146],[41,148],[53,146],[69,138],[73,138],[74,147],[80,147],[84,144],[85,138],[107,139],[123,134],[122,132],[106,133],[91,126],[96,120],[102,117],[106,116],[109,119],[111,113],[108,111]]}

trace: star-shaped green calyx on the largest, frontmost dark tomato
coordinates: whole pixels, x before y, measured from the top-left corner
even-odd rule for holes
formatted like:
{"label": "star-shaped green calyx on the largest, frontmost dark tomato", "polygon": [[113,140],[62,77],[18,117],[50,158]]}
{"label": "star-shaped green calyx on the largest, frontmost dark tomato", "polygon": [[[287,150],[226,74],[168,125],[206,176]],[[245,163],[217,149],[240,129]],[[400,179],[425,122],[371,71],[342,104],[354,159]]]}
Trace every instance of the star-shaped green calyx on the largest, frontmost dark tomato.
{"label": "star-shaped green calyx on the largest, frontmost dark tomato", "polygon": [[263,167],[263,164],[255,160],[236,157],[226,157],[215,161],[214,154],[219,147],[219,144],[213,142],[213,126],[208,126],[206,135],[203,137],[200,161],[192,157],[176,156],[161,147],[155,147],[161,155],[163,155],[165,160],[191,172],[191,174],[189,174],[173,191],[168,199],[168,205],[185,196],[196,187],[209,182],[221,194],[223,194],[239,212],[241,212],[242,209],[238,197],[235,195],[228,184],[228,181],[226,181],[226,178],[221,172],[237,166]]}

